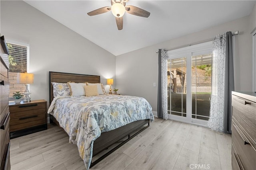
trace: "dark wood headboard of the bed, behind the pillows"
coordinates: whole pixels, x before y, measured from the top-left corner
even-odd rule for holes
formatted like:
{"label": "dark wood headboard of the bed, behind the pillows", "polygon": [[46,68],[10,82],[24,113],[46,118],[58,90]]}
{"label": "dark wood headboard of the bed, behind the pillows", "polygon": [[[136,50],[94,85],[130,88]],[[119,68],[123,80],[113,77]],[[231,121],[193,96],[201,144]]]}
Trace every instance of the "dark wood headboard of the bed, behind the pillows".
{"label": "dark wood headboard of the bed, behind the pillows", "polygon": [[49,71],[49,87],[50,87],[49,102],[50,104],[53,100],[52,82],[67,83],[69,81],[76,82],[76,83],[83,83],[83,82],[100,83],[100,76]]}

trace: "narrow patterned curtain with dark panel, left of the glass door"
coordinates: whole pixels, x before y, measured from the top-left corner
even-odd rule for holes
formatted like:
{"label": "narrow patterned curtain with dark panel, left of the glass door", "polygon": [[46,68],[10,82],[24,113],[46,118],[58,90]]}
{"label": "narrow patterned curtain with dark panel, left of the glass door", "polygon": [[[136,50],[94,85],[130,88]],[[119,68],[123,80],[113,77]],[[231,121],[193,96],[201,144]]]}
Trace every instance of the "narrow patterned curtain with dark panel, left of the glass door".
{"label": "narrow patterned curtain with dark panel, left of the glass door", "polygon": [[168,119],[167,113],[167,51],[158,50],[158,100],[157,115]]}

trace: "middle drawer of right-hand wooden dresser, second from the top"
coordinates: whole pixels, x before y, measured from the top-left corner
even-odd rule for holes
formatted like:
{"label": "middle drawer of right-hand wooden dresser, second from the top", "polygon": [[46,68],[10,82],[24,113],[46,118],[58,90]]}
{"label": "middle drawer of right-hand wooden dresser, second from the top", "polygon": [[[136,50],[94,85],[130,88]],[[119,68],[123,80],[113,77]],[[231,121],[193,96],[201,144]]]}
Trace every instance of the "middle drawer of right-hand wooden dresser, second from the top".
{"label": "middle drawer of right-hand wooden dresser, second from the top", "polygon": [[255,169],[256,150],[234,122],[232,123],[232,146],[237,153],[237,159],[240,160],[242,167],[248,170]]}

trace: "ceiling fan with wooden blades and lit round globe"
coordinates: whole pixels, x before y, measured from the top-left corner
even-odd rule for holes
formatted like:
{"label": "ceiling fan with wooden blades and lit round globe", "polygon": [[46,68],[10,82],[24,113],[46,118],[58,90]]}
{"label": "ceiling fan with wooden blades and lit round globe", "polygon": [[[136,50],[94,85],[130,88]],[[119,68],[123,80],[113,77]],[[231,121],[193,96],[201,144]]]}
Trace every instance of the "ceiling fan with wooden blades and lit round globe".
{"label": "ceiling fan with wooden blades and lit round globe", "polygon": [[112,14],[116,17],[116,25],[118,30],[123,29],[123,16],[125,12],[145,18],[148,18],[150,16],[150,12],[146,10],[142,10],[141,8],[132,5],[125,6],[126,2],[128,1],[129,0],[111,0],[111,6],[102,7],[97,10],[88,12],[87,14],[89,16],[95,16],[98,14],[112,11]]}

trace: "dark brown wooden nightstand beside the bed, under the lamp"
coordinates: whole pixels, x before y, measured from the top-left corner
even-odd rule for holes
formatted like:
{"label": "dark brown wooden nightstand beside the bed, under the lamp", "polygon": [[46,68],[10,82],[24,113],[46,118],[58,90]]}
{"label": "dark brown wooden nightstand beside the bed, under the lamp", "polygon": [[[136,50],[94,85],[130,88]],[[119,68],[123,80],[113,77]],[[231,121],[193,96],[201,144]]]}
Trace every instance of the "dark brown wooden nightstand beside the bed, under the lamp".
{"label": "dark brown wooden nightstand beside the bed, under the lamp", "polygon": [[10,139],[47,129],[47,101],[9,103]]}

